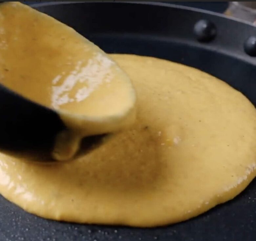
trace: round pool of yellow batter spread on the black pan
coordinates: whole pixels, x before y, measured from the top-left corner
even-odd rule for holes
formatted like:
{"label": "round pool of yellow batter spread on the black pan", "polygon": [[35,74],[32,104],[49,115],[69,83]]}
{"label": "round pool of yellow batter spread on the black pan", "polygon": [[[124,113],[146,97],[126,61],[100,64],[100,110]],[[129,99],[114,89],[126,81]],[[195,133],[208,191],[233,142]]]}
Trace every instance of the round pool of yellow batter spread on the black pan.
{"label": "round pool of yellow batter spread on the black pan", "polygon": [[256,174],[256,110],[197,69],[112,55],[138,93],[137,121],[68,163],[0,154],[0,192],[39,216],[158,226],[238,195]]}

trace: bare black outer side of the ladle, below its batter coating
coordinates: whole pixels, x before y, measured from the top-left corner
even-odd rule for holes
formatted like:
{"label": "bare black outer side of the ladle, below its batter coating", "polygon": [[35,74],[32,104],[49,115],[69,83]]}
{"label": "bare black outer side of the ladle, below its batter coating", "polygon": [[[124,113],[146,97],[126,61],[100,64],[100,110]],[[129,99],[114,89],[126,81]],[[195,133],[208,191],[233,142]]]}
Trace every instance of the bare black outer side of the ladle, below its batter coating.
{"label": "bare black outer side of the ladle, below its batter coating", "polygon": [[0,150],[2,151],[15,153],[27,149],[51,150],[56,134],[66,129],[53,109],[32,102],[2,84],[0,84],[0,111]]}

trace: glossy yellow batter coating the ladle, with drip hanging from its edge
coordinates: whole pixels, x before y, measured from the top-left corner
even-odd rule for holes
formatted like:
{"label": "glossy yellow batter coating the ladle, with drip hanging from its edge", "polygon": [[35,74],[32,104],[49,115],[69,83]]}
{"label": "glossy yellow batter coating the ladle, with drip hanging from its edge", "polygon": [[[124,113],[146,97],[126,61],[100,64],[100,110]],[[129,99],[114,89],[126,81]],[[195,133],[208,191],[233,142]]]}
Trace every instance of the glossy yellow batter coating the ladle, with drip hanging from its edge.
{"label": "glossy yellow batter coating the ladle, with drip hanging from its edge", "polygon": [[119,66],[74,29],[19,2],[0,5],[0,83],[54,109],[72,130],[56,138],[56,159],[71,158],[84,136],[134,121],[135,91]]}

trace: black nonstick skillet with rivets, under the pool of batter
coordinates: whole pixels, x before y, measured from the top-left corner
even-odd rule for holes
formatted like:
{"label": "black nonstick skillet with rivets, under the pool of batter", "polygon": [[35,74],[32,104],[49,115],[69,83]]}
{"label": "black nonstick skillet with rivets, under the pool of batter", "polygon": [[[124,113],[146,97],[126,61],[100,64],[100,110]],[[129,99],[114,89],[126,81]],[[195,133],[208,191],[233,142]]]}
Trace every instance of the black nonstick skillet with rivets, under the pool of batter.
{"label": "black nonstick skillet with rivets, under the pool of batter", "polygon": [[[245,44],[256,36],[252,25],[161,3],[46,3],[35,8],[75,28],[106,52],[155,56],[199,68],[242,91],[256,105],[256,58],[244,50],[245,45],[255,54],[253,46]],[[152,229],[46,220],[0,196],[0,241],[7,240],[253,241],[256,180],[241,195],[207,213]]]}

